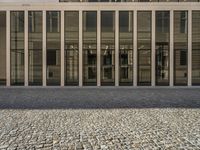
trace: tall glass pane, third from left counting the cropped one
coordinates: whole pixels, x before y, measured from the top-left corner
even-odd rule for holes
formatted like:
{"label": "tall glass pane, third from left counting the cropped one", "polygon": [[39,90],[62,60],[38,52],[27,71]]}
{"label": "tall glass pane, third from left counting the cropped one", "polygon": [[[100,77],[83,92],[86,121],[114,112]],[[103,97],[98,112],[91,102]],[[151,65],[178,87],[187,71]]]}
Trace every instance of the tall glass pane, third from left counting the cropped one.
{"label": "tall glass pane, third from left counting the cropped one", "polygon": [[29,85],[42,85],[42,12],[28,12]]}

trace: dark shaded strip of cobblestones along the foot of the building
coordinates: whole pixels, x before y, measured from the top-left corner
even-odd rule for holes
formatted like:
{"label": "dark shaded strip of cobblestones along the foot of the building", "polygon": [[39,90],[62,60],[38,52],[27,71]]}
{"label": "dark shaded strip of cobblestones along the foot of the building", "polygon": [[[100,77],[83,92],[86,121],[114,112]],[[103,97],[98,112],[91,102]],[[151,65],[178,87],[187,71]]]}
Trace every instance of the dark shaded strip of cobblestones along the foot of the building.
{"label": "dark shaded strip of cobblestones along the foot of the building", "polygon": [[0,109],[117,108],[200,108],[200,88],[0,88]]}

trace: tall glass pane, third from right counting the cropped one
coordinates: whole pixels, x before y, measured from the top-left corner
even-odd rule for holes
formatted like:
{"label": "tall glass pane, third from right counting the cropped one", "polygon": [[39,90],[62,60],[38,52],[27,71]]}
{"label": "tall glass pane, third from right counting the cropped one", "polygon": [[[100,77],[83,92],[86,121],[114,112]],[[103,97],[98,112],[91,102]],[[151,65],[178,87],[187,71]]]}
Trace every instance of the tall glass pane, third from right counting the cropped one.
{"label": "tall glass pane, third from right counting the cropped one", "polygon": [[156,12],[156,85],[169,85],[169,11]]}

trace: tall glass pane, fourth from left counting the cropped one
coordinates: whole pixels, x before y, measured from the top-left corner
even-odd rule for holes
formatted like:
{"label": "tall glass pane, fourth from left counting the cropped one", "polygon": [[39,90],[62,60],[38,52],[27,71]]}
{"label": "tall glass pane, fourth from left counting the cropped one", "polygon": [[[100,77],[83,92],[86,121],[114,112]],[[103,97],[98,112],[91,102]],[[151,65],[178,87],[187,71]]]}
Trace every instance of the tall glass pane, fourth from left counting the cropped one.
{"label": "tall glass pane, fourth from left counting the cropped one", "polygon": [[60,85],[59,11],[47,11],[47,85]]}

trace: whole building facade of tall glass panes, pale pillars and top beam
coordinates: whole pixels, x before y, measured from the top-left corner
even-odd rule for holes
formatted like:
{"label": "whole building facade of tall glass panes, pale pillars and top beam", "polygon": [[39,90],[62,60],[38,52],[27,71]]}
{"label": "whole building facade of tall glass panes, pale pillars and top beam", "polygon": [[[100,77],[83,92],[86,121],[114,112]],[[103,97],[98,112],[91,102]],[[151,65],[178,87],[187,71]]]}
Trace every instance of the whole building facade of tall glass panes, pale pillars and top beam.
{"label": "whole building facade of tall glass panes, pale pillars and top beam", "polygon": [[200,3],[157,1],[0,3],[0,84],[200,85]]}

